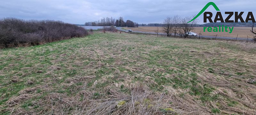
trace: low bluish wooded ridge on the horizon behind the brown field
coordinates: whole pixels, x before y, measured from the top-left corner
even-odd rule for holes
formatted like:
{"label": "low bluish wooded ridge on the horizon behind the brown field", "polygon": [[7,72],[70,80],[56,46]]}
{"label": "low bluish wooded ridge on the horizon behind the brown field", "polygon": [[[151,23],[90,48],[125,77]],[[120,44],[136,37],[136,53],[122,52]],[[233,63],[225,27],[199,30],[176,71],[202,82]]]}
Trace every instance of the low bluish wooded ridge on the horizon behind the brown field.
{"label": "low bluish wooded ridge on the horizon behind the brown field", "polygon": [[[163,27],[164,24],[138,24],[139,26],[148,26],[148,27]],[[216,23],[206,23],[206,24],[195,24],[194,27],[219,27],[219,25],[224,25],[228,27],[251,27],[252,26],[252,21],[248,23],[221,23],[221,22],[216,22]]]}

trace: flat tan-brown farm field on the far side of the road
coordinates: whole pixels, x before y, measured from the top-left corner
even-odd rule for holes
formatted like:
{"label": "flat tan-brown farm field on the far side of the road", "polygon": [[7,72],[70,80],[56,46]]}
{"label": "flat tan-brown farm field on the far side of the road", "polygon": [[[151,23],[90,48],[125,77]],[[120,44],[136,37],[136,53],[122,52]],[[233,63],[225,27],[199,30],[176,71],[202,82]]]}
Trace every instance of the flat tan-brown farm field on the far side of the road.
{"label": "flat tan-brown farm field on the far side of the road", "polygon": [[[156,27],[124,27],[125,29],[131,29],[135,31],[142,31],[142,32],[155,32]],[[193,32],[199,34],[200,31],[202,35],[208,35],[208,36],[226,36],[226,37],[236,37],[238,34],[238,37],[240,38],[253,38],[253,34],[250,32],[252,28],[251,27],[234,27],[233,32],[229,34],[228,32],[204,32],[204,27],[195,27],[195,30]],[[162,31],[162,27],[159,27],[159,30]]]}

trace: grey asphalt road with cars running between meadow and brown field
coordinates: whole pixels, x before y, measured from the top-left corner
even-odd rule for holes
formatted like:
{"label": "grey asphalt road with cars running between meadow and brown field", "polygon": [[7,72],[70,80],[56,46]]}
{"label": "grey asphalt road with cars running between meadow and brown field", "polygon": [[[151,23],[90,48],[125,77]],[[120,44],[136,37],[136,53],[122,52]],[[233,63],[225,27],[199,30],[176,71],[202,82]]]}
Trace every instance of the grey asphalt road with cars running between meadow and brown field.
{"label": "grey asphalt road with cars running between meadow and brown field", "polygon": [[[117,30],[120,30],[120,31],[125,31],[125,32],[128,32],[128,30],[124,30],[122,29],[122,27],[116,27]],[[132,31],[132,32],[135,32],[135,33],[146,33],[146,34],[156,34],[155,32],[140,32],[140,31]],[[165,33],[158,33],[158,34],[162,34],[162,35],[167,35]],[[174,34],[172,34],[174,35]],[[195,37],[199,37],[199,36],[195,36]],[[204,38],[215,38],[216,36],[205,36],[205,35],[202,35],[200,37],[204,37]],[[233,37],[220,37],[220,36],[217,36],[216,39],[233,39],[233,40],[236,40],[236,38],[233,38]],[[237,40],[247,40],[247,38],[237,38]],[[248,41],[253,41],[252,38],[248,38]]]}

